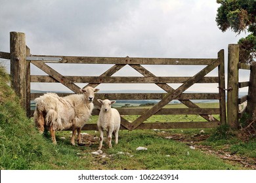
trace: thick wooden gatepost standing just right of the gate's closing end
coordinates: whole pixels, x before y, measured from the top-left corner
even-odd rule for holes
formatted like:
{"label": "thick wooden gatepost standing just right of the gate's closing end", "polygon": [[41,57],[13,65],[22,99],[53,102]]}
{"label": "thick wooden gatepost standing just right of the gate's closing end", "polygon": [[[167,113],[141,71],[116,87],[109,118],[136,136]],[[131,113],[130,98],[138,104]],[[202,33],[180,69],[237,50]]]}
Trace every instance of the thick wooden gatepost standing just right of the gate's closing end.
{"label": "thick wooden gatepost standing just right of the gate's closing end", "polygon": [[228,44],[228,122],[233,129],[238,129],[238,63],[239,44]]}

